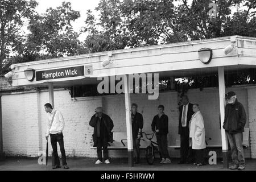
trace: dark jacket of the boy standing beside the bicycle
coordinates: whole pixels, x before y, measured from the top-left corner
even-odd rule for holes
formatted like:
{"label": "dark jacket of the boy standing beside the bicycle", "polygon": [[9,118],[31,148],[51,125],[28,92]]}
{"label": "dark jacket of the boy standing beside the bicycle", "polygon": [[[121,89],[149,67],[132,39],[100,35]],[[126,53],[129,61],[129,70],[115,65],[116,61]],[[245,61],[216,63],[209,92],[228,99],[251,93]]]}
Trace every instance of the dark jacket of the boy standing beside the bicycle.
{"label": "dark jacket of the boy standing beside the bicycle", "polygon": [[167,135],[168,134],[168,116],[163,114],[160,118],[159,115],[155,115],[153,118],[151,129],[155,132],[155,130],[159,130],[159,135]]}

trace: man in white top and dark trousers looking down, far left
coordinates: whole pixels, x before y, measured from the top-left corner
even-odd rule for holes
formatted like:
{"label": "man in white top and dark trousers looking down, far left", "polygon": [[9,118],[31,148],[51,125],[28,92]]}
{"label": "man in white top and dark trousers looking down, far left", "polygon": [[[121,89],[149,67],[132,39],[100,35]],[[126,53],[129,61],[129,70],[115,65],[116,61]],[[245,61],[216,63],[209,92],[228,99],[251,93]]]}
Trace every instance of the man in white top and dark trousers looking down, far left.
{"label": "man in white top and dark trousers looking down, far left", "polygon": [[60,152],[62,157],[62,164],[64,169],[68,169],[66,162],[66,154],[64,148],[64,140],[63,140],[63,129],[64,129],[64,119],[63,115],[59,110],[55,110],[52,108],[52,105],[47,103],[44,105],[44,110],[46,113],[49,113],[47,117],[47,131],[46,131],[46,139],[48,140],[49,135],[51,136],[51,144],[53,150],[53,156],[55,159],[55,166],[53,169],[60,168],[60,160],[59,155],[57,153],[57,142],[60,146]]}

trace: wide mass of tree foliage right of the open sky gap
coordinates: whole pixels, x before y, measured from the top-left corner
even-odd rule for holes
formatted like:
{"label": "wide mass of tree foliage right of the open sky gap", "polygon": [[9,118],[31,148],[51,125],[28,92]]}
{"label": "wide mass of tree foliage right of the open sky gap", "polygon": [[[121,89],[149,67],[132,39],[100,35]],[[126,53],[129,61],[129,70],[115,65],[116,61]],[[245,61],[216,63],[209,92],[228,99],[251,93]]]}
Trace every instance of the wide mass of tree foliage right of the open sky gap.
{"label": "wide mass of tree foliage right of the open sky gap", "polygon": [[[209,3],[217,16],[209,15]],[[240,7],[240,8],[239,8]],[[92,52],[230,35],[256,36],[255,0],[101,0],[85,21]],[[93,31],[92,31],[93,30]]]}

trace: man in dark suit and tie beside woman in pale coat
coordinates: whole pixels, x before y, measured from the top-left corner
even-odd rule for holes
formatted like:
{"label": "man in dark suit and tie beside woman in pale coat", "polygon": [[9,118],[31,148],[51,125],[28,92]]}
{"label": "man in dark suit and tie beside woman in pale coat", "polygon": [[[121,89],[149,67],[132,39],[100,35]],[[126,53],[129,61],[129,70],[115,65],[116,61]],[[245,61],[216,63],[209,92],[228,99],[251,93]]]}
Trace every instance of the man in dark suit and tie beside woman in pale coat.
{"label": "man in dark suit and tie beside woman in pale coat", "polygon": [[188,96],[182,97],[179,117],[179,135],[180,135],[180,156],[179,164],[192,163],[193,154],[189,149],[189,121],[193,112],[193,104],[189,103]]}

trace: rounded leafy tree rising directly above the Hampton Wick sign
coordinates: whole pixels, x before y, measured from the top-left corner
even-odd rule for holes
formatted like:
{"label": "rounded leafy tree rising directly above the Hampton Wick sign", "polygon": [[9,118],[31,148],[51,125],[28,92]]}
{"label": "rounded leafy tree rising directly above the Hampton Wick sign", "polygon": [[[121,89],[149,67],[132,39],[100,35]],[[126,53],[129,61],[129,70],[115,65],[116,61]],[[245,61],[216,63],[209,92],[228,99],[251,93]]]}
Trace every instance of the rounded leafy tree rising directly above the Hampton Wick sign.
{"label": "rounded leafy tree rising directly above the Hampton Wick sign", "polygon": [[28,26],[30,34],[20,39],[16,47],[15,63],[87,53],[71,24],[79,17],[70,2],[33,16]]}

